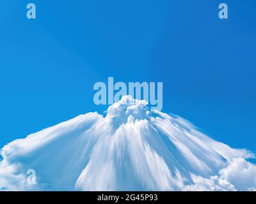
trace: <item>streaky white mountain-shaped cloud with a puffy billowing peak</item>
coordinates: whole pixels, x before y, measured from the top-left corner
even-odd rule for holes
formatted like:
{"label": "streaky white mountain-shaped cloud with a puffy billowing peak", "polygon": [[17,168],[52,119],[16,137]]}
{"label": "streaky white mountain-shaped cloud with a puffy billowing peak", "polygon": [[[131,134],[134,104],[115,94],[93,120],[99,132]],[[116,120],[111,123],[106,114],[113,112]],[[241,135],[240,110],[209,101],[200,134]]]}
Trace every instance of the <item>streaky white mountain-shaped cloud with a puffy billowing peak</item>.
{"label": "streaky white mountain-shaped cloud with a puffy billowing peak", "polygon": [[[127,100],[130,103],[127,103]],[[212,140],[175,115],[124,96],[1,150],[2,191],[253,191],[245,149]],[[36,172],[29,185],[26,172]]]}

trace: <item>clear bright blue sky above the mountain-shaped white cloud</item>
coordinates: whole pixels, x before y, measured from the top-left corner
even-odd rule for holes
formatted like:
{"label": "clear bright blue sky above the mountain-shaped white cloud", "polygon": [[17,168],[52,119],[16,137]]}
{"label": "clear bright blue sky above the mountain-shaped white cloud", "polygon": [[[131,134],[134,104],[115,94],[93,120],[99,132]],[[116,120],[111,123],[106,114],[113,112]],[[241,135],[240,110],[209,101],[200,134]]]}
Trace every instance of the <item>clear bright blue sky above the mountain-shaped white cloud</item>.
{"label": "clear bright blue sky above the mountain-shaped white cloud", "polygon": [[[36,4],[36,20],[26,5]],[[218,4],[228,4],[228,20]],[[256,152],[256,1],[2,0],[0,147],[104,112],[93,84],[163,82],[163,112]]]}

